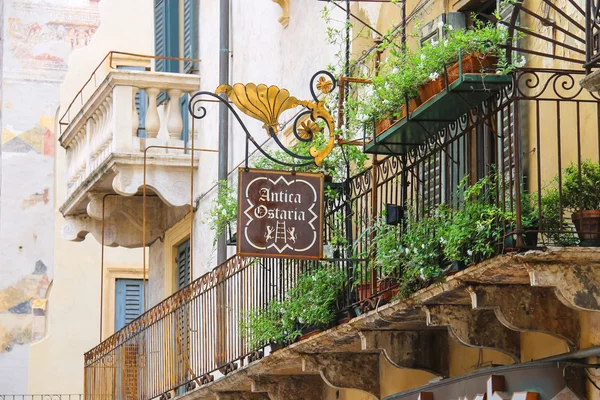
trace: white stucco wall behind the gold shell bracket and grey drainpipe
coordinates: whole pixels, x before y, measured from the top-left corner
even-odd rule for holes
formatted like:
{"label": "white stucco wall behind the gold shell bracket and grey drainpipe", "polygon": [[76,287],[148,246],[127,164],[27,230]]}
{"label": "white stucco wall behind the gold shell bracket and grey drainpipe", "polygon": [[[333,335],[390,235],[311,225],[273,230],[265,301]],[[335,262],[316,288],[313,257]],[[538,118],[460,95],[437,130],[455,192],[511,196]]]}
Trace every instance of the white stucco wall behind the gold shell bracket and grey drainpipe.
{"label": "white stucco wall behind the gold shell bracket and grey drainpipe", "polygon": [[[324,3],[316,1],[291,2],[290,19],[284,28],[278,19],[281,8],[271,1],[234,1],[231,6],[230,83],[264,83],[286,88],[292,96],[310,99],[309,80],[334,61],[337,51],[327,42],[327,24],[321,18]],[[342,26],[344,14],[332,13],[331,26]],[[219,4],[202,1],[200,7],[199,57],[201,89],[214,91],[219,82]],[[208,116],[197,121],[198,147],[218,147],[218,106],[206,104]],[[262,143],[267,139],[262,123],[242,116],[254,138]],[[289,115],[281,119],[285,122]],[[237,172],[244,158],[245,135],[237,122],[230,118],[229,168]],[[250,151],[254,149],[251,148]],[[217,158],[200,155],[196,193],[205,194],[217,180]],[[237,175],[235,178],[237,179]],[[194,274],[199,276],[215,266],[216,253],[211,246],[213,233],[202,224],[214,193],[202,198],[196,213],[198,236],[194,243]],[[234,248],[230,248],[230,254]]]}

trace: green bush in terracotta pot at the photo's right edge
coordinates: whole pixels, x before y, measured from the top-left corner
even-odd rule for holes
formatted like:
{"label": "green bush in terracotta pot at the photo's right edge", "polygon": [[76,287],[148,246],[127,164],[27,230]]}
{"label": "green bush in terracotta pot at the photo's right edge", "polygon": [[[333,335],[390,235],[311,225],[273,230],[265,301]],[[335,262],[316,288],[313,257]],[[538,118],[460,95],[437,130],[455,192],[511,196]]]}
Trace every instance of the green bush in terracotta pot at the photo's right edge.
{"label": "green bush in terracotta pot at the photo's right edge", "polygon": [[582,246],[600,246],[600,163],[584,160],[562,171],[562,205]]}

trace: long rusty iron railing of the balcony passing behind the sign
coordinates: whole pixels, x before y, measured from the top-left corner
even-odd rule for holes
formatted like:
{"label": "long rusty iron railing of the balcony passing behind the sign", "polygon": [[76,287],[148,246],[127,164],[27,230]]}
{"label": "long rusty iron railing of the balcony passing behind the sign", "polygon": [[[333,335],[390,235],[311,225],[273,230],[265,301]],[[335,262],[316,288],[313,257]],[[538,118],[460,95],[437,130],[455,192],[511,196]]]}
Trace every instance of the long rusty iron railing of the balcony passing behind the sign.
{"label": "long rusty iron railing of the balcony passing behind the sign", "polygon": [[[586,160],[600,162],[600,102],[576,85],[583,74],[522,70],[511,85],[449,123],[434,140],[408,155],[375,160],[372,168],[333,185],[339,195],[327,200],[324,237],[329,243],[340,235],[346,239],[335,241],[335,258],[328,260],[348,279],[339,316],[373,307],[403,280],[403,266],[398,265],[394,277],[375,284],[381,271],[353,258],[368,254],[373,238],[369,229],[387,204],[410,205],[423,218],[439,204],[456,207],[461,181],[494,175],[499,190],[490,201],[516,215],[496,253],[562,245],[575,238],[567,201],[584,204],[585,193],[566,198],[559,172],[571,166],[579,177],[574,184],[583,188],[582,166]],[[543,196],[536,193],[553,185],[555,212],[561,218],[550,223]],[[524,197],[537,212],[524,209]],[[537,244],[525,240],[526,235]],[[514,243],[508,245],[505,239],[512,236]],[[146,400],[173,390],[182,393],[240,368],[258,356],[240,335],[243,316],[284,298],[300,274],[320,265],[271,258],[228,260],[86,353],[86,400]],[[368,282],[373,282],[368,293],[359,294],[357,288]]]}

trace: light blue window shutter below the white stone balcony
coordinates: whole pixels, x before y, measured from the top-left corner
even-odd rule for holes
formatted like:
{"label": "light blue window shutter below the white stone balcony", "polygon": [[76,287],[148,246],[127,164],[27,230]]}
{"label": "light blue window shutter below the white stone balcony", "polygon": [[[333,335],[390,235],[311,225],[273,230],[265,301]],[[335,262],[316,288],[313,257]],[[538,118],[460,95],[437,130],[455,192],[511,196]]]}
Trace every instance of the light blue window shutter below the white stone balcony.
{"label": "light blue window shutter below the white stone balcony", "polygon": [[115,332],[144,312],[144,287],[142,282],[142,279],[116,280]]}

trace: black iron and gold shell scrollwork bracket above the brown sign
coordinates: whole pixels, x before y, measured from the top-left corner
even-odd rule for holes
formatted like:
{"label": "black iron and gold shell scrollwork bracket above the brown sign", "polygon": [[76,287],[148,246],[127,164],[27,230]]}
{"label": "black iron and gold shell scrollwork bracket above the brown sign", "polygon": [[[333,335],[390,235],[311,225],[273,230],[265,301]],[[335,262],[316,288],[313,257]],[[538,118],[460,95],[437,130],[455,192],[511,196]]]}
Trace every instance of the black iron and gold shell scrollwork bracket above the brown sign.
{"label": "black iron and gold shell scrollwork bracket above the brown sign", "polygon": [[[314,74],[310,80],[310,92],[312,100],[300,100],[292,95],[287,89],[281,89],[277,86],[267,86],[264,84],[256,85],[254,83],[242,84],[236,83],[233,86],[220,85],[214,93],[202,91],[194,94],[189,104],[189,112],[196,119],[206,117],[206,108],[200,103],[202,96],[209,96],[225,104],[229,111],[234,115],[246,133],[246,167],[248,166],[248,141],[271,161],[288,167],[302,167],[310,164],[321,166],[325,157],[331,153],[335,145],[335,129],[333,117],[327,111],[325,102],[319,100],[320,94],[331,93],[337,86],[335,77],[327,71],[319,71]],[[294,163],[278,160],[262,149],[250,134],[245,124],[241,120],[235,109],[220,94],[225,94],[227,98],[244,114],[263,123],[263,129],[266,130],[269,137],[292,159],[298,160]],[[311,143],[316,139],[317,133],[323,133],[323,127],[318,121],[323,121],[325,129],[329,135],[327,143],[321,149],[312,146],[309,150],[310,155],[294,153],[281,143],[277,134],[279,133],[279,118],[285,111],[302,106],[304,111],[299,112],[293,121],[293,132],[296,139],[300,142]]]}

